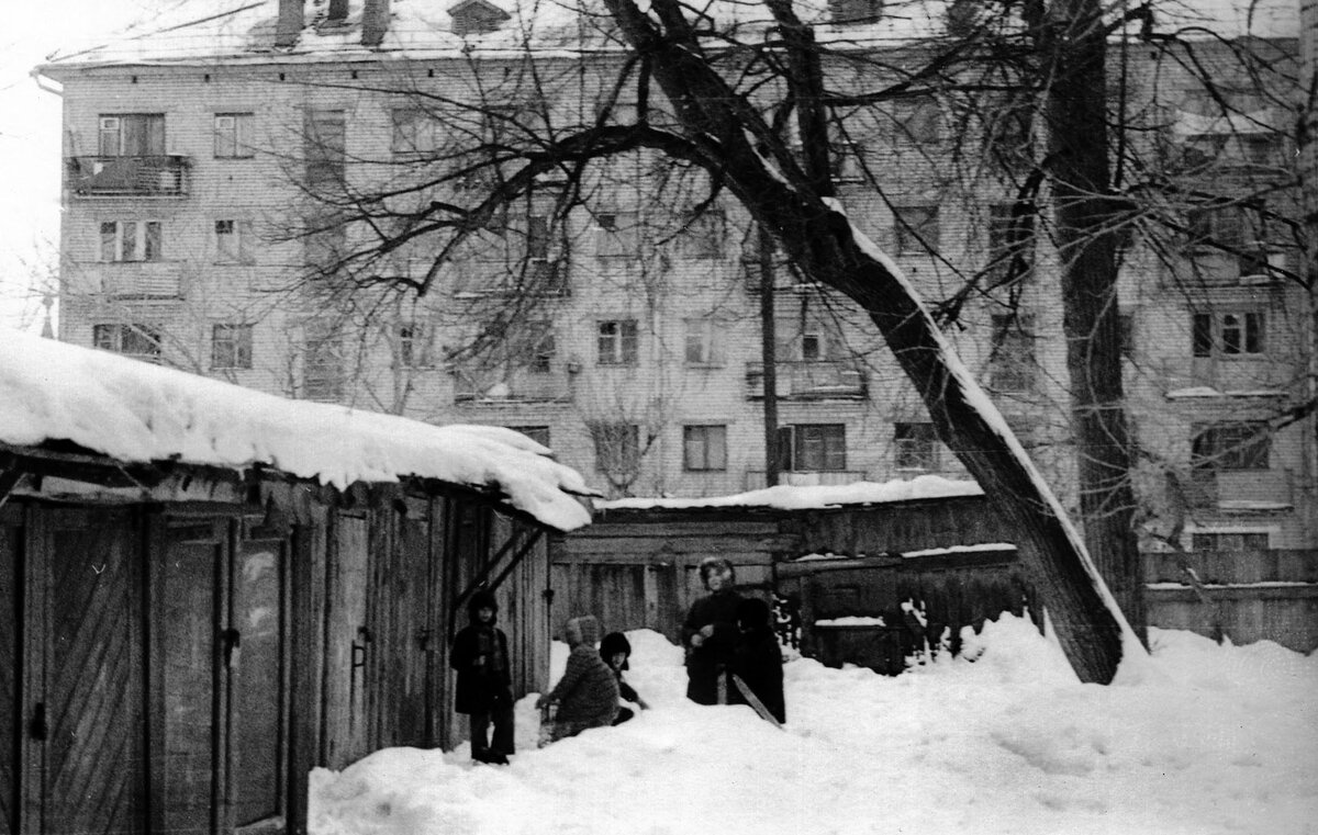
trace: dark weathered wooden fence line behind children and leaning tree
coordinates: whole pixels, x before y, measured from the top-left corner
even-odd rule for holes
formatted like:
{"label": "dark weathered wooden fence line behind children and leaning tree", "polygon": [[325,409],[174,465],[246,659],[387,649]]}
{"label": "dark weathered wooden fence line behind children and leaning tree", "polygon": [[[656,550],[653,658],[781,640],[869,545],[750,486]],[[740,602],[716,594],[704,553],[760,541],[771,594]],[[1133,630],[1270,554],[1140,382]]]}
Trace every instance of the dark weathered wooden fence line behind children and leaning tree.
{"label": "dark weathered wooden fence line behind children and leaning tree", "polygon": [[[554,623],[593,612],[606,630],[651,628],[676,641],[683,614],[704,594],[696,566],[717,554],[737,566],[743,591],[796,607],[808,655],[898,672],[944,627],[956,649],[962,627],[978,630],[1003,611],[1037,615],[1011,541],[983,497],[826,510],[609,510],[551,541]],[[1300,652],[1318,647],[1318,552],[1188,557],[1198,587],[1185,560],[1145,554],[1151,626]],[[923,602],[928,623],[905,614],[909,599]]]}

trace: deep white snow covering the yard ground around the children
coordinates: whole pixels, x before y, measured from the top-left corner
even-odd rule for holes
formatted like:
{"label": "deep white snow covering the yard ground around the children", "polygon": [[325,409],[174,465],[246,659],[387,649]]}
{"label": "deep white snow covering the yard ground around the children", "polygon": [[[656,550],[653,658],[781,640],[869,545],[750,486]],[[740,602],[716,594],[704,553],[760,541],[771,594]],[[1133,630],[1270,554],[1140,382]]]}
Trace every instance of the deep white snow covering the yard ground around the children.
{"label": "deep white snow covering the yard ground around the children", "polygon": [[[683,698],[681,653],[629,633],[652,705],[506,768],[393,748],[311,776],[316,835],[1318,832],[1318,656],[1153,631],[1127,684],[1081,685],[1006,616],[967,657],[887,678],[787,664],[787,730]],[[555,670],[565,649],[555,647]],[[1139,678],[1139,681],[1131,681]]]}

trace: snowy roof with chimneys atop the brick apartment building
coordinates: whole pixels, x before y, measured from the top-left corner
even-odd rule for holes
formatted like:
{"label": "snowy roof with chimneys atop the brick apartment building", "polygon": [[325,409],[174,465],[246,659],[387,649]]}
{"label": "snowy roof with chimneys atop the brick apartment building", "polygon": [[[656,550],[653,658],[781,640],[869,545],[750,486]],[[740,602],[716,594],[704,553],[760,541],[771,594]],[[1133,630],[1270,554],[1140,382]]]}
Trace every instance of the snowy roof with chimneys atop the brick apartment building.
{"label": "snowy roof with chimneys atop the brick apartment building", "polygon": [[[279,0],[181,0],[101,42],[51,54],[45,71],[62,67],[216,63],[378,62],[442,59],[561,50],[626,49],[602,0],[390,0],[389,30],[378,47],[361,43],[361,12],[366,0],[349,0],[343,21],[326,18],[326,3],[308,1],[297,43],[275,47]],[[816,37],[837,46],[878,46],[945,32],[952,0],[888,0],[870,21],[832,25],[828,0],[796,0],[803,20],[818,24]],[[646,4],[642,3],[642,7]],[[1124,8],[1114,3],[1114,8]],[[507,20],[496,30],[455,34],[452,12],[485,7],[502,9]],[[766,29],[766,8],[739,0],[696,0],[722,28],[746,37]],[[1164,0],[1157,4],[1155,29],[1184,37],[1288,37],[1300,32],[1296,0]],[[1132,24],[1137,28],[1139,24]]]}

